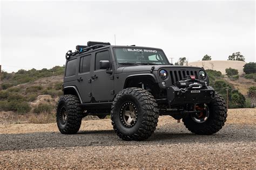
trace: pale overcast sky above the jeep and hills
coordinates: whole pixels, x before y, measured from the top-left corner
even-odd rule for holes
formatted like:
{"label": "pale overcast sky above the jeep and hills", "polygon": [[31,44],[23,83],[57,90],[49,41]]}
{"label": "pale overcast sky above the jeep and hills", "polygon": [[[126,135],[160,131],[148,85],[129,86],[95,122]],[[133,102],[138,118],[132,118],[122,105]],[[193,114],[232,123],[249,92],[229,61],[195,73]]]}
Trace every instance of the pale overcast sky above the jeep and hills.
{"label": "pale overcast sky above the jeep and hills", "polygon": [[[1,0],[0,0],[1,1]],[[157,47],[176,62],[205,54],[255,62],[255,1],[1,1],[2,70],[65,64],[87,41]],[[171,59],[170,59],[171,61]]]}

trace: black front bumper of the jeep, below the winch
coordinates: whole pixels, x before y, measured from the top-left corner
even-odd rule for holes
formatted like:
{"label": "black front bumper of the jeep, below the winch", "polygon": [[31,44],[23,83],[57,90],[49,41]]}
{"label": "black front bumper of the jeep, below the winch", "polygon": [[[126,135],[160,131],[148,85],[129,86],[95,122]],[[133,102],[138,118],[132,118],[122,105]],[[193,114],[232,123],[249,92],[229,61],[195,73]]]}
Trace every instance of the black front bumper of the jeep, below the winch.
{"label": "black front bumper of the jeep, below the winch", "polygon": [[210,103],[215,91],[211,86],[203,89],[180,89],[177,86],[167,88],[169,105],[182,105],[192,103]]}

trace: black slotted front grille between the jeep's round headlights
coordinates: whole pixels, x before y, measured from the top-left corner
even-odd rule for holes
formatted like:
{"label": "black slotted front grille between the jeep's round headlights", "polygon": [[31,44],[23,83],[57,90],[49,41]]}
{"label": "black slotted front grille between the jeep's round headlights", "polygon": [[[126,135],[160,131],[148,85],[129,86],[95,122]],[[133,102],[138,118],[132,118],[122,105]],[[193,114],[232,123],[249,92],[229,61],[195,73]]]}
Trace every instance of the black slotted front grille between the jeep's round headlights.
{"label": "black slotted front grille between the jeep's round headlights", "polygon": [[185,79],[187,76],[194,75],[196,76],[196,79],[198,79],[197,71],[189,71],[189,70],[171,70],[171,81],[172,84],[176,83],[177,81],[180,81],[182,79]]}

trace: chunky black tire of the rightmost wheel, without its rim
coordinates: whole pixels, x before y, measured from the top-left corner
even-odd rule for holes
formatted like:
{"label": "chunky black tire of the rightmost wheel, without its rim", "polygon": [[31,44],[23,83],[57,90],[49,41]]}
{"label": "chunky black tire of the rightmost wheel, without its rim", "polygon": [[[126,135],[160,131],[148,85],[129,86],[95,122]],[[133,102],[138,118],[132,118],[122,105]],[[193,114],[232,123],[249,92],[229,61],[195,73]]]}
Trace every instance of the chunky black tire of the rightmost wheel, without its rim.
{"label": "chunky black tire of the rightmost wheel, without its rim", "polygon": [[204,123],[194,122],[191,116],[183,118],[186,128],[195,134],[213,134],[218,132],[225,124],[227,107],[224,98],[215,93],[214,99],[208,104],[210,115]]}

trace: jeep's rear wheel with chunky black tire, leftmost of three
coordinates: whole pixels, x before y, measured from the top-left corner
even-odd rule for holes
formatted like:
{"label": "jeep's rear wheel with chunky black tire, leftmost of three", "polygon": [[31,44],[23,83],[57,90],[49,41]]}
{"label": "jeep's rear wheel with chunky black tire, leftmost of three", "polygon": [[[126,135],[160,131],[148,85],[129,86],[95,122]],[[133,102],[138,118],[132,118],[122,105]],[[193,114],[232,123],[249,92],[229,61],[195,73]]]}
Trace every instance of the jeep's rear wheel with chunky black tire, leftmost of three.
{"label": "jeep's rear wheel with chunky black tire, leftmost of three", "polygon": [[77,96],[63,95],[59,97],[56,121],[61,133],[77,133],[80,128],[82,118],[82,109],[79,107],[79,100]]}

